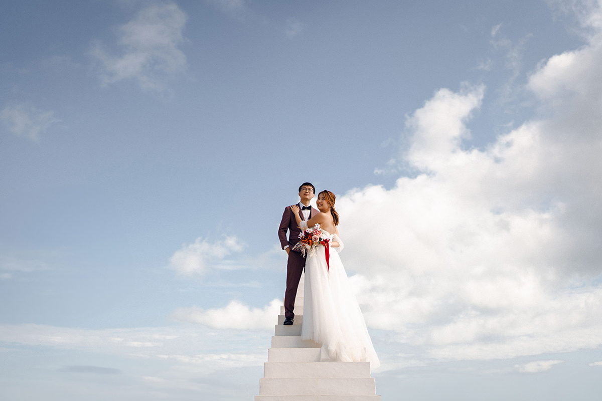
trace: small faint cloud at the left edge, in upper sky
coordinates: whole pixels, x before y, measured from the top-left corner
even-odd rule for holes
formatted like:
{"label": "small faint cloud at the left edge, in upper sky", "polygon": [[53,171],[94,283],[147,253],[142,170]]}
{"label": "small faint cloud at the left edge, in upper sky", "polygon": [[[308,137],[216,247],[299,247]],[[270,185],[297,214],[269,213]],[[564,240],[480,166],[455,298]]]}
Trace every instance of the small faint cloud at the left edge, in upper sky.
{"label": "small faint cloud at the left edge, in upper sky", "polygon": [[33,142],[38,142],[41,133],[46,132],[52,124],[61,121],[54,117],[53,111],[41,111],[25,104],[6,106],[0,111],[0,120],[14,135]]}

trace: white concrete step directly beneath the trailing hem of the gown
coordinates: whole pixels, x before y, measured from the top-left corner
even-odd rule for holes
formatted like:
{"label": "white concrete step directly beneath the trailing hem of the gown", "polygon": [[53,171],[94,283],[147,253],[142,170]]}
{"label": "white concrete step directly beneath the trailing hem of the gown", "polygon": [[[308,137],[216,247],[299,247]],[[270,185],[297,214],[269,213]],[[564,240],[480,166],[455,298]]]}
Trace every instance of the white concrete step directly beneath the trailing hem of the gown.
{"label": "white concrete step directly beneath the trailing hem of the gown", "polygon": [[264,378],[370,378],[370,362],[266,362]]}

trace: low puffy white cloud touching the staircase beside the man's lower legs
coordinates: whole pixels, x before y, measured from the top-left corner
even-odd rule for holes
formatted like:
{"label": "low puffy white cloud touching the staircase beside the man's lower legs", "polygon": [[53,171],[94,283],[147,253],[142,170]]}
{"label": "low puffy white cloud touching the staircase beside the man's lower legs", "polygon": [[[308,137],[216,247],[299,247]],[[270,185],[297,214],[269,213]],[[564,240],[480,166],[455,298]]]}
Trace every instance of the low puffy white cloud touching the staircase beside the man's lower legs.
{"label": "low puffy white cloud touching the staircase beside the man's lower legs", "polygon": [[173,318],[181,322],[201,323],[218,329],[257,330],[273,329],[280,313],[281,301],[274,299],[264,308],[250,308],[240,301],[231,301],[226,307],[204,310],[199,307],[178,308]]}

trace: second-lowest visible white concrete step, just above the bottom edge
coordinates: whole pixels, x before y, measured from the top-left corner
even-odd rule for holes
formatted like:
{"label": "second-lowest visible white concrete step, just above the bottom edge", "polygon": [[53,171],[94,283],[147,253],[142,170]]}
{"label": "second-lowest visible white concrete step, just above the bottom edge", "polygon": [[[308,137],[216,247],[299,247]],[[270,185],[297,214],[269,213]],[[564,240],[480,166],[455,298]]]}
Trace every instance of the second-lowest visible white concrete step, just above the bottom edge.
{"label": "second-lowest visible white concrete step, just above the bottom edge", "polygon": [[259,379],[260,396],[376,396],[374,378]]}

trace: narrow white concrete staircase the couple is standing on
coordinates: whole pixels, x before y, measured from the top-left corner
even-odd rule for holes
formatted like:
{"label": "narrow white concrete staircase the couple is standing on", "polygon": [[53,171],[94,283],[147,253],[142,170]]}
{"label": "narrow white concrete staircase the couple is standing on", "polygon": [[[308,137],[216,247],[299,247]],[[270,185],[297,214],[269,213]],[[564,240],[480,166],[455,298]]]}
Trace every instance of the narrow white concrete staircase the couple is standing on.
{"label": "narrow white concrete staircase the couple is standing on", "polygon": [[320,362],[320,344],[301,340],[304,283],[303,275],[293,325],[282,324],[280,307],[255,401],[380,401],[369,362]]}

